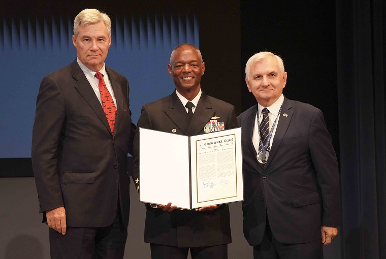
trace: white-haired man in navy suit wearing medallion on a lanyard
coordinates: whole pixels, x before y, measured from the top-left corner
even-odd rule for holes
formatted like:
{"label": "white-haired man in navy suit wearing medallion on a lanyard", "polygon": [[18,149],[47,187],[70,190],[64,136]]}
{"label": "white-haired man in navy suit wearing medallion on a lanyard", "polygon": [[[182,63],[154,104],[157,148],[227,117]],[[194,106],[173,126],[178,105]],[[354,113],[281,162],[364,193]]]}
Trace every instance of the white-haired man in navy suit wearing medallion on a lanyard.
{"label": "white-haired man in navy suit wearing medallion on a lanyard", "polygon": [[287,73],[271,52],[253,55],[245,76],[258,104],[237,117],[244,236],[254,258],[323,258],[340,213],[338,163],[323,114],[284,97]]}

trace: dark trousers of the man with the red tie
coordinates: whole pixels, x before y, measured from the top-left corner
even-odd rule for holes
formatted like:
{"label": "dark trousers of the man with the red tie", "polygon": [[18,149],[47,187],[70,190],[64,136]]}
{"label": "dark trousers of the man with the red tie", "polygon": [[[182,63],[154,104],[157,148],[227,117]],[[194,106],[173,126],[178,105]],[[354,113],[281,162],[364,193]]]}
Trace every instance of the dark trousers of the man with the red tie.
{"label": "dark trousers of the man with the red tie", "polygon": [[121,259],[127,239],[127,227],[119,219],[105,228],[72,228],[66,235],[50,228],[50,252],[53,259]]}

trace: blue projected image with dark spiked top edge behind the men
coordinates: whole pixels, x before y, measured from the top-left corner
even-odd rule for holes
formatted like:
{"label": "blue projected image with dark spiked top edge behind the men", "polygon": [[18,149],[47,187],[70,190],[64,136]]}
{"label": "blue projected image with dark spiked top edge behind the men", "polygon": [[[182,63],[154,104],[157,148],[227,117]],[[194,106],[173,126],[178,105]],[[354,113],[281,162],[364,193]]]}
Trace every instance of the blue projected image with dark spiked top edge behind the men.
{"label": "blue projected image with dark spiked top edge behind the men", "polygon": [[[113,18],[112,44],[105,61],[128,78],[132,119],[141,106],[170,94],[174,84],[167,72],[170,53],[181,43],[199,46],[194,15],[172,14]],[[2,117],[0,158],[30,157],[39,83],[48,73],[76,58],[74,17],[36,16],[3,19],[0,40]]]}

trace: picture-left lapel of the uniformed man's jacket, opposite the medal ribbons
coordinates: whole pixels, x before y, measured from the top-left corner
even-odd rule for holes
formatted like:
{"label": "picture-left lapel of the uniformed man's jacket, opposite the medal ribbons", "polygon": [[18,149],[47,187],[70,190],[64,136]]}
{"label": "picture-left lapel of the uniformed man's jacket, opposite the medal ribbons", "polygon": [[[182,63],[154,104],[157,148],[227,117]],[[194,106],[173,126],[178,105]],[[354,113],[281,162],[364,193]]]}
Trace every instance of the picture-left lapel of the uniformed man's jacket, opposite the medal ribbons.
{"label": "picture-left lapel of the uniformed man's jacket, opposite the medal ribbons", "polygon": [[186,135],[190,119],[175,91],[170,95],[169,107],[165,108],[165,113],[180,131]]}

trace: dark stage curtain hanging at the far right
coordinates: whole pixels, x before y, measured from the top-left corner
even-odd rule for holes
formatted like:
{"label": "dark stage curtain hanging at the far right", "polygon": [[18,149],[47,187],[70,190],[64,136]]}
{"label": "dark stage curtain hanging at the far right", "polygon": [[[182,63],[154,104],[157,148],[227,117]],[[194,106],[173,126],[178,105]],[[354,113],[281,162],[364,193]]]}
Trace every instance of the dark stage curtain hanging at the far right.
{"label": "dark stage curtain hanging at the far right", "polygon": [[342,258],[386,258],[385,7],[336,1]]}

